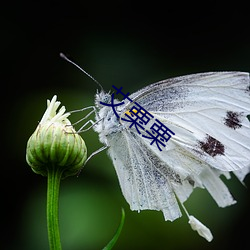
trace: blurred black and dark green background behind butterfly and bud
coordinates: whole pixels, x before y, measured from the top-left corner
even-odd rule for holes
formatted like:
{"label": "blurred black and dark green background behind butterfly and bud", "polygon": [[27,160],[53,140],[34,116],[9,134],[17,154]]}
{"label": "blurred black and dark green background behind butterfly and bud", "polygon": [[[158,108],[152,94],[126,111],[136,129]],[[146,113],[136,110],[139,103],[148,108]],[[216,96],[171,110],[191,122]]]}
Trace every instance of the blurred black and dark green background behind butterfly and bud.
{"label": "blurred black and dark green background behind butterfly and bud", "polygon": [[[161,4],[160,4],[161,3]],[[10,2],[1,7],[2,230],[1,249],[48,249],[46,178],[25,161],[26,143],[54,94],[67,110],[93,105],[97,85],[59,57],[69,55],[102,83],[132,93],[169,77],[219,70],[249,71],[247,8],[169,2]],[[77,121],[83,114],[75,114]],[[82,134],[89,154],[102,145]],[[206,242],[185,216],[132,212],[111,161],[102,152],[81,175],[62,181],[60,229],[64,250],[102,249],[126,219],[114,249],[248,249],[249,188],[226,180],[237,204],[218,208],[205,190],[186,202],[213,235]],[[246,178],[250,186],[250,177]]]}

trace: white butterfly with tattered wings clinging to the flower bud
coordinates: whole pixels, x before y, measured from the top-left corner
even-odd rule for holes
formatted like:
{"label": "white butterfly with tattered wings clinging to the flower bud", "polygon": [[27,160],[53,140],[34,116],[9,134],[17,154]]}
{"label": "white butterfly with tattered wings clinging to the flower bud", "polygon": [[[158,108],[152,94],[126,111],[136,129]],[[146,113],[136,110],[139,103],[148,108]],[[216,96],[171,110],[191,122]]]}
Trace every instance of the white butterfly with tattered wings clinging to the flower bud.
{"label": "white butterfly with tattered wings clinging to the flower bud", "polygon": [[[243,182],[250,172],[249,74],[197,73],[153,83],[122,102],[114,96],[97,91],[91,123],[104,144],[96,152],[107,148],[131,210],[160,210],[174,221],[181,206],[192,229],[211,241],[210,230],[183,203],[197,187],[219,207],[236,202],[220,177],[234,174]],[[172,133],[164,141],[166,128]]]}

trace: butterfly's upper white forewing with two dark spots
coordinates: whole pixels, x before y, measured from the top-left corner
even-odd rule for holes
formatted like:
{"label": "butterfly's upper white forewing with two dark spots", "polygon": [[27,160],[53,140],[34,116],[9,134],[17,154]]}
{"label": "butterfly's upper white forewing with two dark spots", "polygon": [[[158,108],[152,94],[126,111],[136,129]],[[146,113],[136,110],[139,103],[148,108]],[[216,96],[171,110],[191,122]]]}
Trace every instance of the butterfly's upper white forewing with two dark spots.
{"label": "butterfly's upper white forewing with two dark spots", "polygon": [[236,171],[241,180],[249,172],[248,73],[172,78],[149,85],[130,98],[174,131],[171,140],[195,158],[218,170]]}

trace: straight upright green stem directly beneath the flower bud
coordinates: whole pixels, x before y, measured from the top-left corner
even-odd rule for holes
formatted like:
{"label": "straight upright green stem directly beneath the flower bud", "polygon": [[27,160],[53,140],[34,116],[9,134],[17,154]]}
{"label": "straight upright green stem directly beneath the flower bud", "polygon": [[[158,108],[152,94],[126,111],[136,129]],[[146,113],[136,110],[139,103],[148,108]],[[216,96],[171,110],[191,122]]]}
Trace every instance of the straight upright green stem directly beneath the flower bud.
{"label": "straight upright green stem directly beneath the flower bud", "polygon": [[50,250],[61,250],[59,231],[59,188],[62,170],[58,167],[48,168],[47,186],[47,227]]}

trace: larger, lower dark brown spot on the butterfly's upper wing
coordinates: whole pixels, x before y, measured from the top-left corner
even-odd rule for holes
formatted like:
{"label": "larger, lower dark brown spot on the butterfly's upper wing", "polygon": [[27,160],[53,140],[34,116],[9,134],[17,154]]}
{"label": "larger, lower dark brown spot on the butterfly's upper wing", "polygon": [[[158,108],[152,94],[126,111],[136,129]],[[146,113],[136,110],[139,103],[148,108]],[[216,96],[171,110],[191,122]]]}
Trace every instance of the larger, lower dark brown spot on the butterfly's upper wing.
{"label": "larger, lower dark brown spot on the butterfly's upper wing", "polygon": [[224,155],[225,152],[224,145],[210,135],[207,135],[205,141],[199,141],[199,146],[204,152],[212,157]]}

